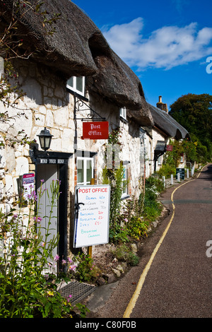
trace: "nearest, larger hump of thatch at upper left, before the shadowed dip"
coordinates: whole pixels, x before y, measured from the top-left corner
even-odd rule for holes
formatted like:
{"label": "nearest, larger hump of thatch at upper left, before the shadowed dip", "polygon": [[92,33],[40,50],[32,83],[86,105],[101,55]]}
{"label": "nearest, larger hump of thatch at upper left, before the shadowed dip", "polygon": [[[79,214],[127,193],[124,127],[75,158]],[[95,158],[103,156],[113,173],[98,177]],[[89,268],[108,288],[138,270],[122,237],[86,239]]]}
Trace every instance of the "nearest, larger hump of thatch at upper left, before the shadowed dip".
{"label": "nearest, larger hump of thatch at upper left, before the shadowed dip", "polygon": [[[30,8],[22,4],[17,7],[17,0],[0,1],[4,18],[10,20],[13,15],[20,22],[16,35],[23,39],[23,47],[29,48],[28,53],[36,50],[34,59],[62,71],[67,77],[95,73],[97,67],[88,45],[90,36],[99,32],[93,21],[69,0],[44,0],[36,12],[33,8],[39,2],[30,0]],[[45,11],[47,14],[41,14]],[[44,24],[45,18],[51,19],[55,13],[60,18],[52,25]],[[49,35],[53,28],[55,33]]]}

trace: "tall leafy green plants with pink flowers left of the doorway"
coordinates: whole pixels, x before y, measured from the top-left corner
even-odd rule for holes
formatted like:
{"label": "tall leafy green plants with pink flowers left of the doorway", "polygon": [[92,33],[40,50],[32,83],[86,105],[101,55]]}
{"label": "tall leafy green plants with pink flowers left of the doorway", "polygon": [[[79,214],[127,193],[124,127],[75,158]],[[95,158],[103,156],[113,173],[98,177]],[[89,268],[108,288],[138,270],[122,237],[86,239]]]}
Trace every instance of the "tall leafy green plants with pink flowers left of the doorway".
{"label": "tall leafy green plants with pink flowers left of the doorway", "polygon": [[[41,235],[42,218],[37,214],[43,194],[41,185],[38,195],[33,189],[28,195],[27,221],[24,220],[26,215],[21,213],[21,202],[18,213],[14,209],[0,213],[0,240],[3,245],[0,259],[1,318],[70,316],[71,304],[57,292],[59,275],[53,274],[58,257],[53,257],[52,251],[59,237],[49,239],[52,211],[59,198],[59,182],[52,183],[49,193],[51,212],[44,237]],[[38,205],[36,211],[35,203]],[[57,280],[54,284],[45,275],[47,266],[51,278]]]}

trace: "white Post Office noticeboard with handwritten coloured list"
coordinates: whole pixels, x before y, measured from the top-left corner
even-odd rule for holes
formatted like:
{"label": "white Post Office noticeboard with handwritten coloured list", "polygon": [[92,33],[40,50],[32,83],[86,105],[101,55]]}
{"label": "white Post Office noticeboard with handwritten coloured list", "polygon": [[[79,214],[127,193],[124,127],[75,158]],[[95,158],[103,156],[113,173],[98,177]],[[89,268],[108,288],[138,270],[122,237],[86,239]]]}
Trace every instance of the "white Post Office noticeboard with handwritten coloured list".
{"label": "white Post Office noticeboard with handwritten coloured list", "polygon": [[76,186],[73,247],[109,242],[110,186]]}

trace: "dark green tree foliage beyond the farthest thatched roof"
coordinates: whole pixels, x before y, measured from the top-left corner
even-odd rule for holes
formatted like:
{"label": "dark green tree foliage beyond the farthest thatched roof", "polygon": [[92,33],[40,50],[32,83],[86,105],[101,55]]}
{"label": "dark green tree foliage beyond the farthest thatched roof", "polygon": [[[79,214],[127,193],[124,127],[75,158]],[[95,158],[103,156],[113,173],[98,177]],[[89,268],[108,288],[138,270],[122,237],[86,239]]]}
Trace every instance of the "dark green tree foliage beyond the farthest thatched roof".
{"label": "dark green tree foliage beyond the farthest thatched roof", "polygon": [[170,115],[184,126],[196,144],[198,162],[211,160],[212,95],[182,95],[170,105]]}

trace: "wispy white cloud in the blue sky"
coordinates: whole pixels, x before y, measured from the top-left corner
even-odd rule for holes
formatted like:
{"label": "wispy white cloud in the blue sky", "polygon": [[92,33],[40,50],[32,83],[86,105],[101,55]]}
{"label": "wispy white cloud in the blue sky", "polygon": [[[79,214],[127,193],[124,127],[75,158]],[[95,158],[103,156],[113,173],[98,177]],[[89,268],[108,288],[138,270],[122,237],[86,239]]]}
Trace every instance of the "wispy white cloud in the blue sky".
{"label": "wispy white cloud in the blue sky", "polygon": [[110,46],[129,66],[170,69],[188,64],[212,54],[212,28],[198,30],[197,23],[179,28],[164,26],[151,32],[148,38],[141,34],[143,19],[103,28]]}

